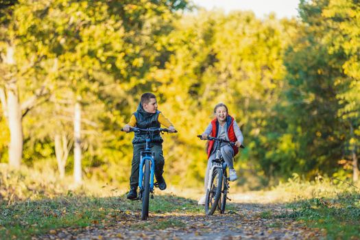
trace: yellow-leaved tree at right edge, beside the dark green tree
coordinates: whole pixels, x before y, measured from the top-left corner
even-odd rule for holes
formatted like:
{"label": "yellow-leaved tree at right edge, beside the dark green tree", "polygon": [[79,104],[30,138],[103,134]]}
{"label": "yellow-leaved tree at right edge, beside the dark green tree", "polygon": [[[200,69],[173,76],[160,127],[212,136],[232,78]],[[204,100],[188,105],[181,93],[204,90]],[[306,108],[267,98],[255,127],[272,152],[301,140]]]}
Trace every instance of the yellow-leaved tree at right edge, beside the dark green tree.
{"label": "yellow-leaved tree at right edge, beside the dark green tree", "polygon": [[348,149],[352,159],[352,180],[359,180],[357,156],[360,145],[360,5],[358,1],[331,0],[322,11],[324,19],[331,26],[324,36],[328,51],[337,59],[344,71],[338,77],[337,99],[341,108],[338,115],[348,123]]}

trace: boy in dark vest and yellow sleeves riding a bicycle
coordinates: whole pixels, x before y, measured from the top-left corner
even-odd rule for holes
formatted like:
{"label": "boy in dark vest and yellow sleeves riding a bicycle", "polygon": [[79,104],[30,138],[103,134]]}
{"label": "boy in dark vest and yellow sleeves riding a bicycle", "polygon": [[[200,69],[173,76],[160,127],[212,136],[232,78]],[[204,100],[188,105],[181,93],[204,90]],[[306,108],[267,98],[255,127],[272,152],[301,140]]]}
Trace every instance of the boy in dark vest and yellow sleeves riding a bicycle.
{"label": "boy in dark vest and yellow sleeves riding a bicycle", "polygon": [[[128,124],[123,127],[125,132],[129,132],[131,127],[137,128],[160,128],[160,124],[163,124],[166,128],[169,128],[170,132],[175,132],[173,124],[164,117],[164,115],[158,111],[158,103],[156,96],[152,93],[144,93],[141,95],[140,104],[130,118]],[[131,176],[130,176],[130,191],[128,193],[128,199],[135,200],[137,198],[137,187],[139,186],[139,165],[140,165],[140,152],[145,150],[145,132],[135,132],[134,139],[132,139],[133,155],[131,164]],[[155,177],[158,181],[158,187],[160,190],[166,189],[166,182],[163,178],[163,168],[165,164],[163,156],[163,139],[158,134],[154,134],[152,141],[150,142],[150,148],[154,152],[155,159]]]}

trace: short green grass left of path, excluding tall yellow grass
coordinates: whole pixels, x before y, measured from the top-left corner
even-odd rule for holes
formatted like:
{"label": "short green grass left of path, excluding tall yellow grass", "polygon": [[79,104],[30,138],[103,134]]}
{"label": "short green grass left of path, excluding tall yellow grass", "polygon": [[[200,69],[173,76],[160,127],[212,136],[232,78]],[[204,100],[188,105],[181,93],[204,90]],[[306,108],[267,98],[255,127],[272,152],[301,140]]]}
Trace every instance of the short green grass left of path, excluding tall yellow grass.
{"label": "short green grass left of path, excluding tall yellow grass", "polygon": [[[202,208],[193,200],[172,195],[156,196],[150,214],[198,213]],[[141,202],[121,197],[61,196],[51,200],[16,202],[0,205],[0,235],[5,239],[30,239],[59,228],[109,226],[121,219],[140,219]],[[153,224],[153,225],[152,225]],[[182,221],[163,219],[155,223],[134,222],[134,228],[165,229],[184,226]]]}

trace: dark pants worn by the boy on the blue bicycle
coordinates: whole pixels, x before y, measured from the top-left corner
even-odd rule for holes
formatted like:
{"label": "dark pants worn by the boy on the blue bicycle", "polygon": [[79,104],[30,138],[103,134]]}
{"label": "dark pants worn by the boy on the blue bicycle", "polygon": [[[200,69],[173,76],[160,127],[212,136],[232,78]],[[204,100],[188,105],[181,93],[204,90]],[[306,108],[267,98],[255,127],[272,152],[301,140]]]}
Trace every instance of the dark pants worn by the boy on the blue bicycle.
{"label": "dark pants worn by the boy on the blue bicycle", "polygon": [[[131,176],[130,176],[130,187],[138,187],[139,186],[139,165],[140,165],[140,152],[145,150],[144,144],[136,144],[133,145],[134,151],[132,154],[132,162],[131,162]],[[155,177],[163,175],[164,169],[164,156],[163,156],[163,145],[155,144],[150,145],[150,149],[154,153],[155,159]]]}

